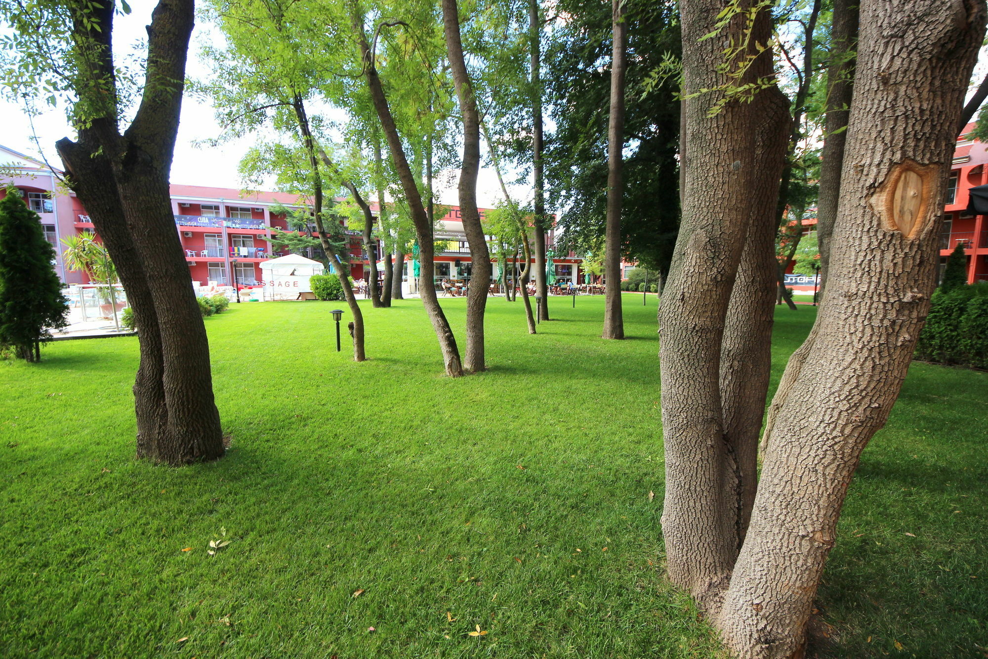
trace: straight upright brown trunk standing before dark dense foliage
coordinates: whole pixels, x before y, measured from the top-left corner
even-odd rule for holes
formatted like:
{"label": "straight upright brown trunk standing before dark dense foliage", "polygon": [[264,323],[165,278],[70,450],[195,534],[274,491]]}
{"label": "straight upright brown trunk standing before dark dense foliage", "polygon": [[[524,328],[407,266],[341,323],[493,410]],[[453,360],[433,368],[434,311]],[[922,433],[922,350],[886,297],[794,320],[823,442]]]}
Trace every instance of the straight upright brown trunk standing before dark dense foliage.
{"label": "straight upright brown trunk standing before dark dense foliage", "polygon": [[608,211],[605,231],[604,273],[607,277],[604,300],[604,338],[624,338],[620,308],[620,210],[624,195],[621,165],[624,161],[624,71],[627,49],[625,0],[612,0],[611,26],[611,116],[608,122]]}

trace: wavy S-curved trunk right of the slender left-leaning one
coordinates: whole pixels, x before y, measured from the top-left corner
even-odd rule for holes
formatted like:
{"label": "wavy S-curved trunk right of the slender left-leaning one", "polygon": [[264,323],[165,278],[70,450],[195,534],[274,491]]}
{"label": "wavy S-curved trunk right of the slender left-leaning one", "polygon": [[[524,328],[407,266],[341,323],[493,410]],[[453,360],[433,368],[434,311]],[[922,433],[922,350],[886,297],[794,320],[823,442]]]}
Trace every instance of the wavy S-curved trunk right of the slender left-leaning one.
{"label": "wavy S-curved trunk right of the slender left-leaning one", "polygon": [[486,370],[484,364],[484,310],[491,286],[491,257],[477,209],[477,173],[480,170],[480,117],[473,85],[463,60],[456,0],[443,0],[446,49],[453,69],[453,86],[463,116],[463,160],[459,170],[459,215],[470,246],[470,285],[466,293],[466,354],[463,367]]}

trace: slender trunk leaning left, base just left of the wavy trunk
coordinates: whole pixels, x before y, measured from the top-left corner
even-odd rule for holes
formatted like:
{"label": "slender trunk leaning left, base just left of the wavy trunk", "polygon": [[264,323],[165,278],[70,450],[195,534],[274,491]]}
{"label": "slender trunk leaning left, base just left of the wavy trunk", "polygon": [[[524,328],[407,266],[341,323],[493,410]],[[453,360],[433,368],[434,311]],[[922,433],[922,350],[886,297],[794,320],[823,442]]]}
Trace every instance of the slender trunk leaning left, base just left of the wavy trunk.
{"label": "slender trunk leaning left, base just left of the wavy trunk", "polygon": [[[450,322],[443,313],[443,308],[439,304],[436,296],[436,287],[433,279],[436,271],[433,243],[433,225],[426,216],[425,207],[422,205],[422,196],[419,194],[418,184],[412,174],[411,167],[405,157],[404,147],[398,135],[398,129],[391,116],[391,110],[387,105],[387,98],[384,96],[384,89],[381,87],[380,78],[377,77],[377,69],[371,57],[371,47],[367,43],[364,35],[364,27],[360,15],[354,18],[354,31],[360,39],[361,53],[364,58],[364,76],[371,92],[371,101],[377,118],[380,120],[384,137],[387,140],[388,149],[391,152],[391,161],[398,177],[401,179],[401,187],[408,201],[409,213],[412,216],[412,223],[415,225],[415,233],[419,240],[420,263],[420,285],[419,295],[422,304],[429,315],[433,329],[439,339],[440,350],[443,353],[443,362],[446,366],[446,373],[450,377],[460,377],[463,375],[463,367],[459,361],[459,349],[456,347],[456,338]],[[431,168],[431,166],[430,166]],[[430,199],[430,205],[431,205]]]}

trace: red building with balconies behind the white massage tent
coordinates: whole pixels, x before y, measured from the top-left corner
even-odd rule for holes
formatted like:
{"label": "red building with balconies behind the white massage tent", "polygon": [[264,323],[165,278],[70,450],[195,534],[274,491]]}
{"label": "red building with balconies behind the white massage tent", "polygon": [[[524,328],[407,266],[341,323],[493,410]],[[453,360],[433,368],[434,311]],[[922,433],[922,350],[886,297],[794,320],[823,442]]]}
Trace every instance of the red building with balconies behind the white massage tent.
{"label": "red building with balconies behind the white massage tent", "polygon": [[[58,252],[56,269],[62,281],[77,284],[86,283],[83,272],[68,270],[61,256],[64,245],[61,239],[67,235],[82,232],[95,232],[86,209],[72,193],[65,193],[57,186],[59,172],[49,169],[41,160],[0,146],[0,162],[10,163],[13,175],[5,177],[3,183],[13,183],[25,199],[41,217],[45,235]],[[0,190],[0,197],[4,192]],[[215,282],[218,285],[232,285],[234,279],[239,285],[252,286],[262,280],[260,264],[268,258],[288,253],[284,248],[273,249],[269,241],[274,229],[288,231],[288,221],[284,213],[273,212],[279,207],[298,208],[299,199],[295,195],[281,192],[258,192],[244,195],[232,188],[214,188],[197,185],[171,186],[172,212],[175,215],[175,229],[182,240],[186,261],[193,281],[203,285]],[[377,211],[376,204],[371,208]],[[486,209],[481,209],[481,217]],[[315,228],[308,227],[306,235],[313,234]],[[363,227],[347,228],[351,236],[351,276],[354,279],[367,279],[370,276],[370,260],[364,250]],[[470,254],[459,219],[458,207],[450,212],[436,227],[437,242],[445,242],[446,249],[436,254],[436,278],[463,279],[470,273]],[[553,232],[546,236],[552,244]],[[371,258],[380,259],[379,241],[371,246]],[[306,248],[304,256],[322,259],[322,250]],[[579,274],[577,258],[570,252],[564,258],[554,260],[556,276],[567,281]],[[498,266],[495,263],[495,277]],[[414,280],[410,257],[403,263],[403,281],[408,290],[408,282]],[[411,276],[410,276],[411,275]],[[378,277],[383,273],[378,268]],[[575,281],[575,280],[574,280]]]}

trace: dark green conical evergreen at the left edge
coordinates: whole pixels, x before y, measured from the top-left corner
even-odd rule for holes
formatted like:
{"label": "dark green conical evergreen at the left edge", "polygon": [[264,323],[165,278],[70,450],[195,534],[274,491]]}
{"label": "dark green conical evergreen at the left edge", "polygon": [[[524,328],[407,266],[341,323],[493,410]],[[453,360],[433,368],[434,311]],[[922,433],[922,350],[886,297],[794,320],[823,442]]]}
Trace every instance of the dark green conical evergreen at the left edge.
{"label": "dark green conical evergreen at the left edge", "polygon": [[0,200],[0,346],[34,360],[39,341],[68,325],[68,300],[55,274],[55,250],[41,218],[8,188]]}

